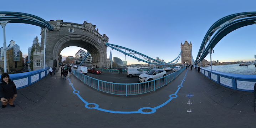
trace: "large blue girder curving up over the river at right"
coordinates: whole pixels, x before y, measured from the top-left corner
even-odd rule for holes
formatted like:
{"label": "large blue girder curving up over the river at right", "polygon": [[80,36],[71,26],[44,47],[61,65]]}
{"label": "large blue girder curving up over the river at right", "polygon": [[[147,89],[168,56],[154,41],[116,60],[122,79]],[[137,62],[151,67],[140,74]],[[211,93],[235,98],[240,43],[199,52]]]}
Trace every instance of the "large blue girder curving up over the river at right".
{"label": "large blue girder curving up over the river at right", "polygon": [[[240,27],[255,24],[256,23],[255,18],[256,18],[256,12],[242,12],[242,13],[225,16],[219,19],[218,21],[216,21],[207,31],[203,39],[203,42],[200,46],[195,63],[199,63],[200,61],[202,61],[208,55],[209,50],[213,49],[215,45],[230,32]],[[211,36],[213,34],[214,36],[211,39]],[[206,46],[208,41],[209,43]]]}

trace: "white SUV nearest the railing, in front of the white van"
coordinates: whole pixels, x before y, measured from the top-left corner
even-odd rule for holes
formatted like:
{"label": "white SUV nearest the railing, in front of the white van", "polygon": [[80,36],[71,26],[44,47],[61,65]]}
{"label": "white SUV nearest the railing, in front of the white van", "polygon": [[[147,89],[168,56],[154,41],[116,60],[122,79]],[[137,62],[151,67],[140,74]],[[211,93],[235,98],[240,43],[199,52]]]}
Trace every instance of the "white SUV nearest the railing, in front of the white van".
{"label": "white SUV nearest the railing, in front of the white van", "polygon": [[152,69],[147,73],[139,75],[140,82],[152,81],[161,77],[166,76],[166,71],[163,69]]}

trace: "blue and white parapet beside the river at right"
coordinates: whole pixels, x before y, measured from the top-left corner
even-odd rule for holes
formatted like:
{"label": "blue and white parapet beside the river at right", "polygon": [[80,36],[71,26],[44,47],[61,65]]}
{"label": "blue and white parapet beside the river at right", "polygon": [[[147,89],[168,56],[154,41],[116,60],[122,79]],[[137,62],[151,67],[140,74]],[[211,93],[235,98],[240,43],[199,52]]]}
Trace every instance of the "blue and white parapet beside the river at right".
{"label": "blue and white parapet beside the river at right", "polygon": [[210,80],[234,90],[253,92],[256,75],[241,75],[200,68],[200,73]]}

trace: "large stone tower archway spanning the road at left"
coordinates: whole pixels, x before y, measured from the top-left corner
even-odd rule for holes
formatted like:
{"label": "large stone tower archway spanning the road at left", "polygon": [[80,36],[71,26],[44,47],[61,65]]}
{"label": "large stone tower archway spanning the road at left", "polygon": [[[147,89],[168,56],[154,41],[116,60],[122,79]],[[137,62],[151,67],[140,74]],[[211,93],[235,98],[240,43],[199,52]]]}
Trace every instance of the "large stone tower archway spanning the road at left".
{"label": "large stone tower archway spanning the road at left", "polygon": [[[60,52],[69,46],[81,47],[90,52],[92,65],[100,68],[106,65],[108,37],[105,34],[100,35],[98,29],[95,29],[96,25],[86,21],[83,24],[63,20],[48,22],[53,26],[53,31],[46,31],[45,67],[53,67],[53,60],[58,60]],[[45,29],[41,29],[40,35],[43,50]]]}

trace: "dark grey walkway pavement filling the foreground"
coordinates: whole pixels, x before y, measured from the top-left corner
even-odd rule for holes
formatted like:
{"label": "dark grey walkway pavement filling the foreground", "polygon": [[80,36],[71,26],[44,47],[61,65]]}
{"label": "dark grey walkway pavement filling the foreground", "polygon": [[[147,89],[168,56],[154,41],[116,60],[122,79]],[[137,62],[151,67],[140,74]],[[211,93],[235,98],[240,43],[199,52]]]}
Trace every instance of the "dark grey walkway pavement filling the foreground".
{"label": "dark grey walkway pavement filling the foreground", "polygon": [[[244,128],[256,125],[252,92],[223,87],[195,70],[183,71],[155,92],[127,97],[98,92],[73,75],[68,75],[68,78],[70,81],[63,80],[58,71],[56,75],[48,75],[31,86],[18,89],[14,101],[16,107],[7,105],[0,109],[1,126]],[[109,112],[86,108],[85,103],[73,93],[70,82],[86,102],[96,103]],[[178,91],[178,97],[152,114],[111,113],[157,107],[168,101],[181,83],[183,87]],[[187,94],[193,94],[193,97],[187,97]]]}

